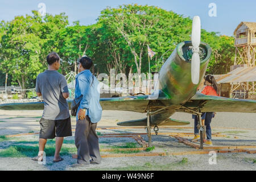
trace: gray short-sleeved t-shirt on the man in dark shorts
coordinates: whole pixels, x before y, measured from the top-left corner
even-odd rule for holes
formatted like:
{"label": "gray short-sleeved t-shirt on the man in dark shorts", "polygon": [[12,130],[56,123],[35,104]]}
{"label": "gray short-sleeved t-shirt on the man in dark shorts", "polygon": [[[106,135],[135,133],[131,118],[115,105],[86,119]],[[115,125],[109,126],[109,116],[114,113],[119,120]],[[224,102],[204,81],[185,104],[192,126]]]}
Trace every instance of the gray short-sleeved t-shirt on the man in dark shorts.
{"label": "gray short-sleeved t-shirt on the man in dark shorts", "polygon": [[42,93],[44,111],[42,118],[59,120],[69,118],[68,102],[62,93],[68,93],[65,77],[57,71],[46,70],[36,77],[36,92]]}

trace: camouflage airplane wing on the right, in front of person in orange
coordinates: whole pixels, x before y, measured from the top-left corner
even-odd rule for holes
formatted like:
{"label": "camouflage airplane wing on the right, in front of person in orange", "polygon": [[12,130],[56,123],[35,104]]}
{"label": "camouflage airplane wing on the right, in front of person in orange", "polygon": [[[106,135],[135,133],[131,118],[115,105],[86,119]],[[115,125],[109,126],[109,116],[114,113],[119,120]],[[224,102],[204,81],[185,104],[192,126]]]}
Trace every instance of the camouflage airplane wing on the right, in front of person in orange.
{"label": "camouflage airplane wing on the right, in front of person in orange", "polygon": [[[183,106],[195,110],[200,108],[201,112],[236,112],[236,113],[256,113],[256,101],[241,100],[226,97],[206,96],[197,92],[195,96]],[[180,107],[176,111],[192,113],[185,107]]]}

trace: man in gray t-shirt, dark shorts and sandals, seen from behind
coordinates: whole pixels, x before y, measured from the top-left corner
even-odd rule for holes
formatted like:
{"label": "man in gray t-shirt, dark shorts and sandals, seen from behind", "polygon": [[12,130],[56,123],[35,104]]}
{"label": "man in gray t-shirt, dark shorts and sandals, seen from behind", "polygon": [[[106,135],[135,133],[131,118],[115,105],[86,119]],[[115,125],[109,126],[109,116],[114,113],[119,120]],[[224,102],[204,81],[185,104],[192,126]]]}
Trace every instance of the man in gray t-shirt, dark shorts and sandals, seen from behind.
{"label": "man in gray t-shirt, dark shorts and sandals, seen from behind", "polygon": [[60,57],[56,52],[47,56],[48,70],[36,77],[36,94],[44,100],[44,111],[40,119],[39,154],[32,160],[43,160],[43,151],[47,139],[56,137],[56,148],[53,162],[60,162],[60,149],[64,137],[72,136],[71,118],[69,115],[68,85],[65,77],[57,70],[60,68]]}

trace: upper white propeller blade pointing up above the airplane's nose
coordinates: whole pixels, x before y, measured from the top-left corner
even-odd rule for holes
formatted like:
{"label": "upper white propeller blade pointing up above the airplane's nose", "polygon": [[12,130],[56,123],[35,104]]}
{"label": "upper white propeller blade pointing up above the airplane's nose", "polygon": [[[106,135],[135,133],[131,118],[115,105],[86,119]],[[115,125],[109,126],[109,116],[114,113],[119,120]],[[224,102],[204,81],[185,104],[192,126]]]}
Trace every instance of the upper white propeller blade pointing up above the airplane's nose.
{"label": "upper white propeller blade pointing up above the airplane's nose", "polygon": [[192,22],[191,42],[193,47],[199,47],[201,39],[201,20],[199,16],[194,16]]}

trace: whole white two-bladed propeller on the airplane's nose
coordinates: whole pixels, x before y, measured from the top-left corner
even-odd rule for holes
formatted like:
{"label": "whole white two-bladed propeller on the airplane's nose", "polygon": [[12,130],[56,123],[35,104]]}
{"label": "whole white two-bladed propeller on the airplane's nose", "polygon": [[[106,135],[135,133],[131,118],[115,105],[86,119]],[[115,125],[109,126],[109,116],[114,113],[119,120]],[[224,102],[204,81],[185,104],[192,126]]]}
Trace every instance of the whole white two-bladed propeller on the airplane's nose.
{"label": "whole white two-bladed propeller on the airplane's nose", "polygon": [[199,45],[201,37],[201,21],[199,16],[194,16],[192,22],[192,59],[191,59],[191,80],[193,84],[198,84],[200,76],[200,56],[199,56]]}

